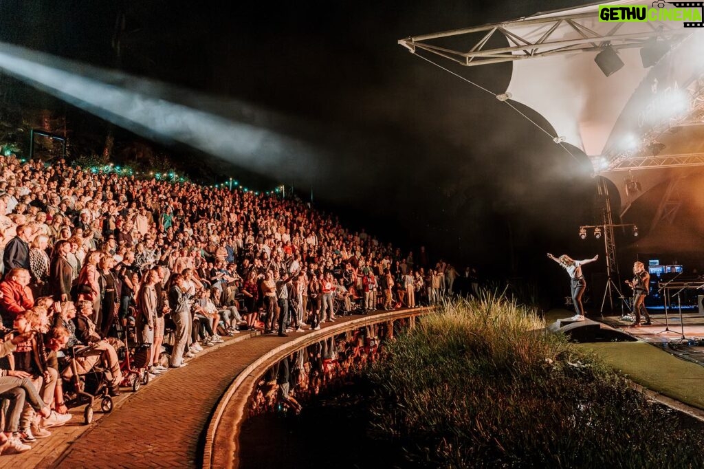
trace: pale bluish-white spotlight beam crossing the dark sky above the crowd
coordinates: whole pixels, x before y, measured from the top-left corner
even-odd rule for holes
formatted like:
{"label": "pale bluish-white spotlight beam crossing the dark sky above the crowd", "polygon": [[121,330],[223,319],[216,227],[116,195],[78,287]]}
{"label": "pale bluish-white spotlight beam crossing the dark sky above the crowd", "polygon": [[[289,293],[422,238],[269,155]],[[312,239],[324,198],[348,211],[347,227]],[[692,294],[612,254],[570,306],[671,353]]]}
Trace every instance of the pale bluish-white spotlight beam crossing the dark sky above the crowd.
{"label": "pale bluish-white spotlight beam crossing the dark sky above the crowd", "polygon": [[[180,142],[260,173],[310,175],[317,149],[264,127],[184,106],[145,90],[165,89],[151,80],[84,65],[19,46],[0,43],[0,71],[57,96],[142,137]],[[129,89],[130,84],[139,89]],[[315,158],[317,171],[325,158]],[[321,168],[322,166],[322,168]]]}

